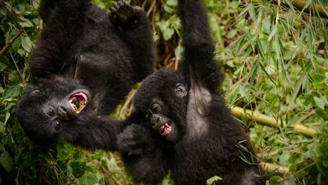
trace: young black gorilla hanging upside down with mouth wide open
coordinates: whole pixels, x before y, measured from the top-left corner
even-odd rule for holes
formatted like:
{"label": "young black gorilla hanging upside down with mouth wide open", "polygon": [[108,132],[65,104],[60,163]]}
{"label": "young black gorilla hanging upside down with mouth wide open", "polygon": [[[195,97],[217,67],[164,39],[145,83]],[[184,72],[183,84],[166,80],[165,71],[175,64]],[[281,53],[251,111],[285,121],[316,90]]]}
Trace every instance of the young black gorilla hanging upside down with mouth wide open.
{"label": "young black gorilla hanging upside down with mouth wide open", "polygon": [[17,107],[37,144],[116,148],[119,123],[108,114],[153,71],[155,54],[140,7],[118,2],[111,11],[109,17],[87,0],[41,2],[46,26],[30,58],[32,82]]}

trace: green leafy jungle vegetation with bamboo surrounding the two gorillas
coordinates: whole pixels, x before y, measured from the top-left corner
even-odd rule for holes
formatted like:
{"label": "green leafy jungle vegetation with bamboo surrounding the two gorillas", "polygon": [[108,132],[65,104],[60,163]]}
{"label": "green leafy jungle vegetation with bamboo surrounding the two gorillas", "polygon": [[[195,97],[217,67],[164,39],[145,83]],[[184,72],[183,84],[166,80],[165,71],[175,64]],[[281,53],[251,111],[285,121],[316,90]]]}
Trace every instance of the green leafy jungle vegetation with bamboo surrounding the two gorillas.
{"label": "green leafy jungle vegetation with bamboo surrounding the two gorillas", "polygon": [[[115,1],[93,3],[109,11]],[[328,184],[328,2],[203,3],[216,59],[226,74],[222,88],[227,103],[237,106],[236,119],[248,132],[264,171],[273,175],[267,184]],[[40,149],[24,135],[15,108],[43,27],[38,4],[0,0],[0,184],[136,184],[118,153],[85,151],[65,142]],[[183,48],[177,0],[131,4],[141,6],[151,20],[157,69],[178,68]],[[112,117],[125,119],[133,111],[134,93]],[[162,184],[173,182],[166,178]]]}

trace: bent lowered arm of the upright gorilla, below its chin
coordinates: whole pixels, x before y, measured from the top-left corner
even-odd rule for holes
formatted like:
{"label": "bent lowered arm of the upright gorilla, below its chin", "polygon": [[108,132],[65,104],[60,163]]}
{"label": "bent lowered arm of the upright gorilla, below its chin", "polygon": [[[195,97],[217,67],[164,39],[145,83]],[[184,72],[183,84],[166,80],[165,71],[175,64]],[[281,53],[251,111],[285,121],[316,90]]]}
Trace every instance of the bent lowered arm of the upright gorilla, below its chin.
{"label": "bent lowered arm of the upright gorilla, below its chin", "polygon": [[[118,135],[117,147],[122,160],[133,179],[138,182],[157,184],[168,173],[169,154],[165,153],[163,144],[151,128],[134,123],[146,123],[137,113],[127,120],[130,123]],[[131,124],[132,123],[132,124]]]}

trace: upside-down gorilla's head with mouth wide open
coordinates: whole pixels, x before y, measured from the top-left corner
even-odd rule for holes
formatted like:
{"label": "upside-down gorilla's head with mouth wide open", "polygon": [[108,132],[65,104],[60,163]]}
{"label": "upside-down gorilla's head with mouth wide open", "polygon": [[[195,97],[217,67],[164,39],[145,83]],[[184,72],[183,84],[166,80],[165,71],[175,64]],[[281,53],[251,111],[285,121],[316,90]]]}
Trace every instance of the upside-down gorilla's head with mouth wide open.
{"label": "upside-down gorilla's head with mouth wide open", "polygon": [[[36,143],[53,144],[67,134],[80,114],[89,112],[91,96],[74,80],[54,80],[47,85],[28,85],[17,106],[17,117]],[[90,114],[90,113],[88,113]]]}

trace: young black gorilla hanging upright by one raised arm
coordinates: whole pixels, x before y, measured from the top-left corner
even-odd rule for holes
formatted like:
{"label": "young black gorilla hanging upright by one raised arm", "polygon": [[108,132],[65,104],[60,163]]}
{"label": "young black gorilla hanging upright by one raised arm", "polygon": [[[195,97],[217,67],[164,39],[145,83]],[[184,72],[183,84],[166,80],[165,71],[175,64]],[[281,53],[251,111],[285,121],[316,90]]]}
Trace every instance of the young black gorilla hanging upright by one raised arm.
{"label": "young black gorilla hanging upright by one raised arm", "polygon": [[[171,170],[175,184],[265,184],[258,165],[243,162],[236,145],[247,140],[217,87],[223,75],[214,59],[206,10],[179,0],[183,28],[182,72],[161,69],[135,96],[136,112],[118,136],[118,149],[136,181],[158,183]],[[249,141],[242,142],[253,151]]]}

